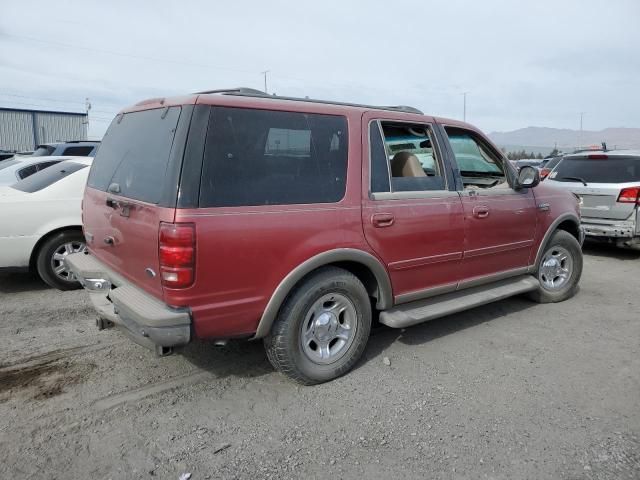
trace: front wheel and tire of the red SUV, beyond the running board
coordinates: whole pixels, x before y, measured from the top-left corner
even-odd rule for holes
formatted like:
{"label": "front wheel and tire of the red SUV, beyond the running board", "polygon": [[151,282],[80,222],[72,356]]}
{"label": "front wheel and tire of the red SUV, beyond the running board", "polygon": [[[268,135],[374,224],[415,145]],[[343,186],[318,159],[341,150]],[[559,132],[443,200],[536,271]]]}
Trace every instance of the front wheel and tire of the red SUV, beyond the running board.
{"label": "front wheel and tire of the red SUV, beyond the running board", "polygon": [[557,230],[543,252],[535,273],[540,288],[529,293],[529,298],[538,303],[555,303],[573,297],[582,275],[580,243],[569,232]]}

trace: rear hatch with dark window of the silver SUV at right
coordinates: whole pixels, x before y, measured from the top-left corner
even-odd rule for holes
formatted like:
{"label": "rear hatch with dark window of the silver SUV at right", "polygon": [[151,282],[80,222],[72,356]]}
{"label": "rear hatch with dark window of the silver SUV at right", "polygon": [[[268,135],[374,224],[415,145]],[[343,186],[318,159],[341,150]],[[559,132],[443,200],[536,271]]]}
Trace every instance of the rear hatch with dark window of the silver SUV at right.
{"label": "rear hatch with dark window of the silver SUV at right", "polygon": [[569,189],[582,197],[583,217],[626,220],[635,212],[636,203],[619,201],[620,194],[640,185],[640,158],[607,154],[566,157],[549,180],[570,183]]}

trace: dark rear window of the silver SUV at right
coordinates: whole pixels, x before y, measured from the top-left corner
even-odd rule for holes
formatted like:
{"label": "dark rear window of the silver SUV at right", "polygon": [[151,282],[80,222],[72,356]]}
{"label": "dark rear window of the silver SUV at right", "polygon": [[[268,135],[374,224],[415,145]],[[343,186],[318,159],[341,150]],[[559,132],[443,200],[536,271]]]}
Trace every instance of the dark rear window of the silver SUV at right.
{"label": "dark rear window of the silver SUV at right", "polygon": [[640,158],[609,157],[602,160],[565,158],[551,172],[549,178],[560,182],[575,182],[576,178],[581,178],[587,183],[638,182],[640,181]]}

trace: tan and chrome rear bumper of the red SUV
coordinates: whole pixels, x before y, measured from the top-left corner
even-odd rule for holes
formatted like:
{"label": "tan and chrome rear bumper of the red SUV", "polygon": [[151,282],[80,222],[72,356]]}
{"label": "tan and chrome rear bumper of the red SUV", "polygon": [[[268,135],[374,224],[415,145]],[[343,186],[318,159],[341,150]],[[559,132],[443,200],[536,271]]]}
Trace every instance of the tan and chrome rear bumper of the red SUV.
{"label": "tan and chrome rear bumper of the red SUV", "polygon": [[92,255],[75,253],[67,256],[65,262],[89,292],[100,318],[112,322],[136,343],[150,349],[189,343],[191,315],[188,309],[165,305]]}

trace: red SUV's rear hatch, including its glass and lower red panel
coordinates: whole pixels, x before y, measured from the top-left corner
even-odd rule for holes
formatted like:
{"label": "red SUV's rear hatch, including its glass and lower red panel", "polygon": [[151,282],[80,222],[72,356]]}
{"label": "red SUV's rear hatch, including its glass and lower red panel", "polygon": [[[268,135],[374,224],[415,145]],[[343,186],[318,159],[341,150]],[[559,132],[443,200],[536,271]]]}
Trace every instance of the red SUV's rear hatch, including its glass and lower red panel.
{"label": "red SUV's rear hatch, including its glass and lower red panel", "polygon": [[90,252],[161,299],[158,235],[175,218],[178,178],[193,107],[147,102],[119,114],[93,162],[83,202]]}

